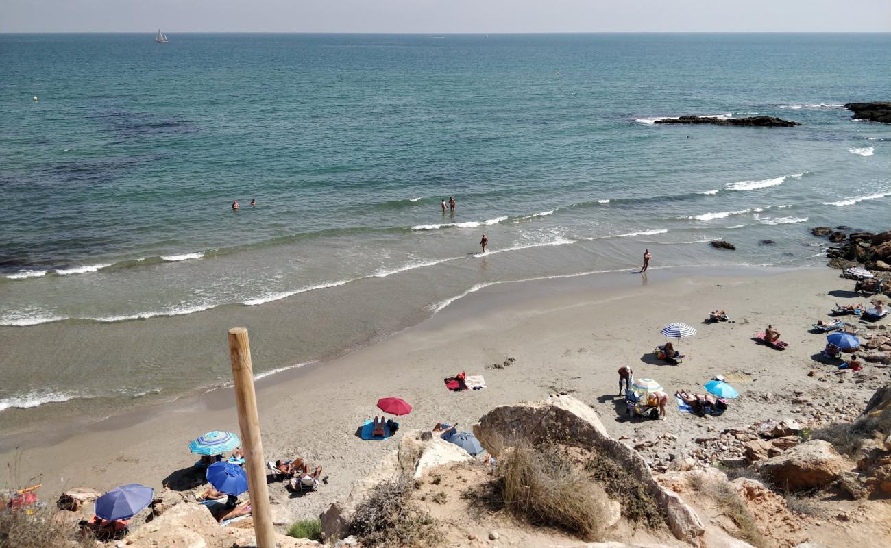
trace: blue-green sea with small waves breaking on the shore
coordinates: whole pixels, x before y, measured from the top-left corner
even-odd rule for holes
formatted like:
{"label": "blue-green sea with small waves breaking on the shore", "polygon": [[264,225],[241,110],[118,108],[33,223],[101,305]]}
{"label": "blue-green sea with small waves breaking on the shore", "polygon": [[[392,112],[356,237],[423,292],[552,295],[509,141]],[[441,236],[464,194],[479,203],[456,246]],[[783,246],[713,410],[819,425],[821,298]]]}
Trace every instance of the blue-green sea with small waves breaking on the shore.
{"label": "blue-green sea with small waves breaking on the shore", "polygon": [[[891,127],[844,108],[891,98],[889,34],[154,31],[0,35],[7,425],[225,384],[233,325],[263,376],[493,283],[891,221]],[[801,126],[654,123],[688,114]]]}

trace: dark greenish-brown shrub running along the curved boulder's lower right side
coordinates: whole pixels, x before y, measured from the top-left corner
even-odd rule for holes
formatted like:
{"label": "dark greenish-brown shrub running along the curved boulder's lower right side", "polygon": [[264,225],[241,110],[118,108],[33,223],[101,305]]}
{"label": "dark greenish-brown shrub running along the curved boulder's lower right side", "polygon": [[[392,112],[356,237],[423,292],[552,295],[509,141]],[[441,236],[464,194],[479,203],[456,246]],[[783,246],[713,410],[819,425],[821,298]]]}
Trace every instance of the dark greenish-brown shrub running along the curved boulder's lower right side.
{"label": "dark greenish-brown shrub running along the curved boulder's lower right side", "polygon": [[642,523],[649,528],[661,528],[665,525],[665,517],[656,498],[650,495],[647,487],[634,474],[622,468],[618,462],[593,450],[591,458],[584,464],[584,470],[601,483],[610,497],[622,503],[622,516],[625,519]]}

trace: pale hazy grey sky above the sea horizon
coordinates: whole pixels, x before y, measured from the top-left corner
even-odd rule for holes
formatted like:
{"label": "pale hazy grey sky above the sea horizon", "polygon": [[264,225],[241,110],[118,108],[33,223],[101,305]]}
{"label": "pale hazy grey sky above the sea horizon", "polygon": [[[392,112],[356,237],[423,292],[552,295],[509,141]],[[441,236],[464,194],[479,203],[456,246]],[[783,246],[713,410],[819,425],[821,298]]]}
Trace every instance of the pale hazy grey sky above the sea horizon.
{"label": "pale hazy grey sky above the sea horizon", "polygon": [[[854,6],[856,6],[854,8]],[[888,0],[0,0],[0,32],[888,32]]]}

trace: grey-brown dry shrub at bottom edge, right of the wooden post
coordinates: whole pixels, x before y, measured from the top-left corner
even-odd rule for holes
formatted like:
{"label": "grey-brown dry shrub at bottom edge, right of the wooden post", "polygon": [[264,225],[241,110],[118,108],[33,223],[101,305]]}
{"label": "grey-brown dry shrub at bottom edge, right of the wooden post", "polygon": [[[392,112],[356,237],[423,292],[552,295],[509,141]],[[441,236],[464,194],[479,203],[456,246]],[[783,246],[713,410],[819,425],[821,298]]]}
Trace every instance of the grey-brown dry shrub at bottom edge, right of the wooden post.
{"label": "grey-brown dry shrub at bottom edge, right of the wooden post", "polygon": [[363,546],[374,548],[433,546],[442,540],[434,519],[413,503],[413,482],[407,478],[381,483],[359,504],[349,532]]}

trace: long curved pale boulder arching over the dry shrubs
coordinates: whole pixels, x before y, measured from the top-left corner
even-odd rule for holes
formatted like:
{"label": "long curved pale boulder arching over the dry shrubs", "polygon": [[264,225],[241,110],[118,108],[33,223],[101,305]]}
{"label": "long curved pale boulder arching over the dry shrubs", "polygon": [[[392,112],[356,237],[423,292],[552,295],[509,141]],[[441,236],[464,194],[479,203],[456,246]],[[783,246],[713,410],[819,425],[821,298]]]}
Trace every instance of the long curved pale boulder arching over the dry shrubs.
{"label": "long curved pale boulder arching over the dry shrubs", "polygon": [[495,456],[518,442],[535,446],[545,439],[571,440],[597,449],[618,462],[657,500],[674,536],[695,540],[705,528],[699,515],[673,491],[659,485],[641,454],[609,436],[597,413],[571,396],[552,396],[539,402],[499,405],[473,427],[479,442]]}

